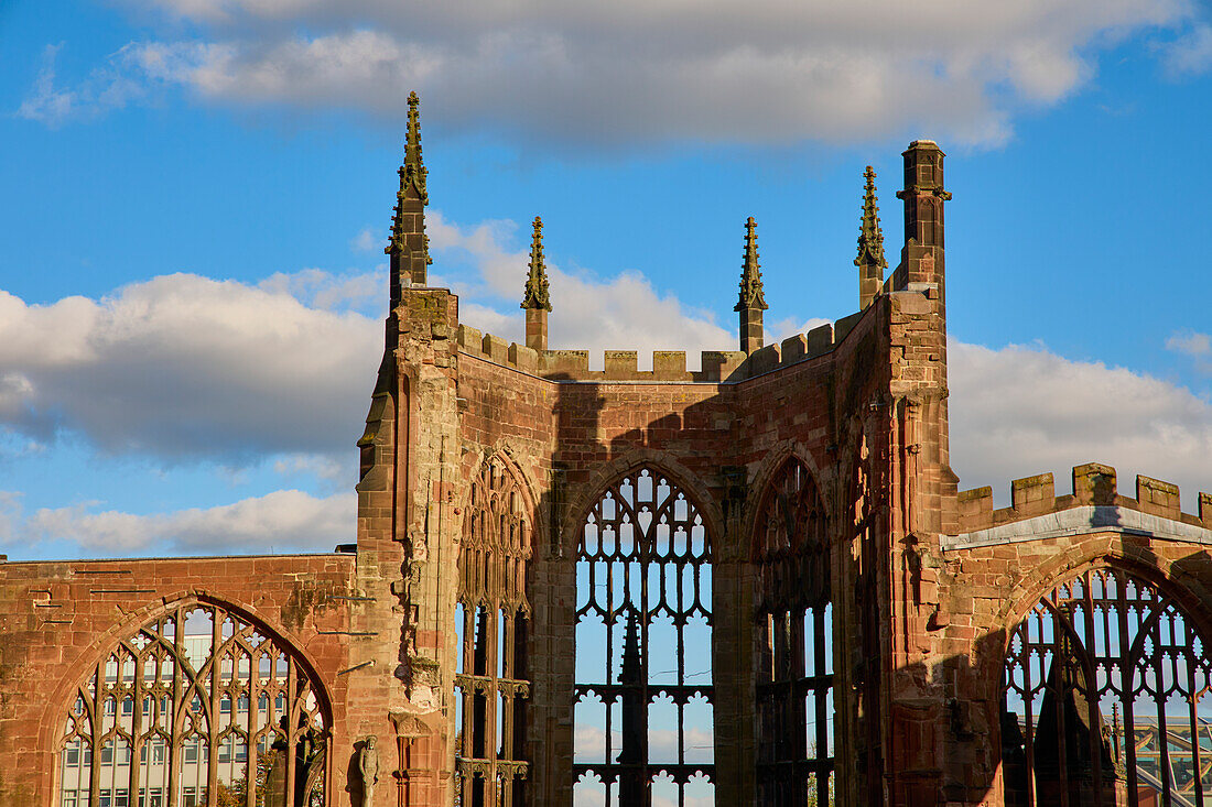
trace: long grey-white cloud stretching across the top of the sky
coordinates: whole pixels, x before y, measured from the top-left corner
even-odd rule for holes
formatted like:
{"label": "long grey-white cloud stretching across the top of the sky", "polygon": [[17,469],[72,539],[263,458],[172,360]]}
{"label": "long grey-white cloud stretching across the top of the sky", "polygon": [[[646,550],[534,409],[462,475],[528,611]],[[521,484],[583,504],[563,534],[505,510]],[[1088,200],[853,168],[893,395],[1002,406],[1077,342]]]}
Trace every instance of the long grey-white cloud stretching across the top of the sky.
{"label": "long grey-white cloud stretching across the top of the sky", "polygon": [[132,2],[200,36],[115,62],[211,102],[398,121],[416,88],[444,127],[574,145],[997,143],[1013,111],[1082,86],[1099,48],[1194,13],[1183,0]]}

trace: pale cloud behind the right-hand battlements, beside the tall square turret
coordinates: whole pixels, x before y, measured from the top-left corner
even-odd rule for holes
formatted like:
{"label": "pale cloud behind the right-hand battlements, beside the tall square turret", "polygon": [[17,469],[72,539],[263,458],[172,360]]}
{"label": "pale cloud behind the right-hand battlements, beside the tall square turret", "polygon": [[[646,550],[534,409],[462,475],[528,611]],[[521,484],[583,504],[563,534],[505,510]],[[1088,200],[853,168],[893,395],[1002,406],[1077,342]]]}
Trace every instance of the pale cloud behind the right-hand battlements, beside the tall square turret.
{"label": "pale cloud behind the right-hand battlements, beside the tall square turret", "polygon": [[951,467],[961,488],[993,485],[1008,504],[1010,480],[1102,462],[1136,496],[1136,474],[1177,483],[1184,509],[1212,490],[1212,404],[1145,373],[1071,361],[1042,347],[948,349]]}

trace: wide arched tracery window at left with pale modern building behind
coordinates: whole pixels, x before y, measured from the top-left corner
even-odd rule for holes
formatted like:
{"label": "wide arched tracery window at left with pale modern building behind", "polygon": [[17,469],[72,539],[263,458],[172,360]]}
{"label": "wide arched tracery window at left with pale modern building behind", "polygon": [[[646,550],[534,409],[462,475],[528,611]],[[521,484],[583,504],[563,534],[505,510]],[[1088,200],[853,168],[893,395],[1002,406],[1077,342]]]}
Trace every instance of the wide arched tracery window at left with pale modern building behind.
{"label": "wide arched tracery window at left with pale modern building behind", "polygon": [[178,605],[80,685],[61,807],[322,807],[330,719],[282,642],[210,602]]}

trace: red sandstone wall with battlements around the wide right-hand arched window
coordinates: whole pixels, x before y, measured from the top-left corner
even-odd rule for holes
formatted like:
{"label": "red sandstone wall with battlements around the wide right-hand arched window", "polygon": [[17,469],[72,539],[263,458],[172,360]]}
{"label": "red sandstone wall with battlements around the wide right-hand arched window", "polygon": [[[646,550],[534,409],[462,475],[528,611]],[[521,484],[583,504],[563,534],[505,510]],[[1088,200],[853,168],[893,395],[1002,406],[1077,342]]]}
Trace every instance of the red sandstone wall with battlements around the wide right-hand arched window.
{"label": "red sandstone wall with battlements around the wide right-hand arched window", "polygon": [[[964,704],[964,731],[972,737],[950,740],[948,779],[960,803],[1004,803],[999,774],[1002,666],[1012,629],[1058,583],[1096,567],[1125,570],[1173,596],[1204,635],[1212,631],[1212,556],[1205,544],[1130,531],[1091,528],[1082,534],[1037,539],[979,539],[976,531],[1005,528],[1037,516],[1063,514],[1086,505],[1121,508],[1161,516],[1183,526],[1212,530],[1212,508],[1200,516],[1180,513],[1178,488],[1138,477],[1137,497],[1117,492],[1115,470],[1091,463],[1073,471],[1073,493],[1056,496],[1052,474],[1012,483],[1013,505],[991,508],[991,491],[979,488],[956,499],[964,532],[942,553],[939,601],[947,625],[936,663]],[[1201,497],[1201,503],[1205,498]],[[1162,523],[1161,527],[1165,527]]]}

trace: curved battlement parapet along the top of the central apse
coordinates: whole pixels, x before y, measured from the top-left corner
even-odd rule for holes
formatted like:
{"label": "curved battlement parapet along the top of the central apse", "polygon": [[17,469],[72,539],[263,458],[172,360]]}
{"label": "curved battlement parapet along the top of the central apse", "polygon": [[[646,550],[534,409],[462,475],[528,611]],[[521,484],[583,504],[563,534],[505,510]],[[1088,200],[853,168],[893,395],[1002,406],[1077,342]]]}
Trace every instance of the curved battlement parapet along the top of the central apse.
{"label": "curved battlement parapet along the top of the central apse", "polygon": [[842,331],[835,332],[834,325],[822,325],[807,333],[787,338],[782,344],[766,345],[750,355],[739,350],[704,350],[701,370],[697,371],[686,368],[685,350],[654,350],[652,370],[639,368],[636,350],[606,350],[604,368],[589,370],[588,350],[533,350],[491,333],[481,333],[469,325],[459,325],[457,340],[459,351],[465,355],[551,380],[710,384],[754,378],[829,354],[853,330],[862,315],[861,311],[839,320]]}

